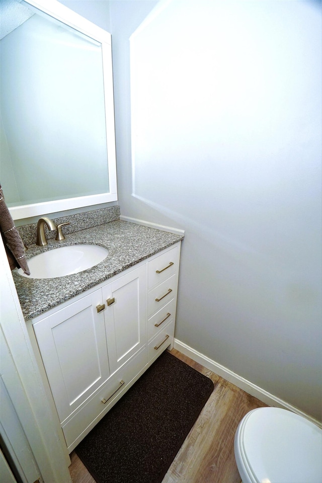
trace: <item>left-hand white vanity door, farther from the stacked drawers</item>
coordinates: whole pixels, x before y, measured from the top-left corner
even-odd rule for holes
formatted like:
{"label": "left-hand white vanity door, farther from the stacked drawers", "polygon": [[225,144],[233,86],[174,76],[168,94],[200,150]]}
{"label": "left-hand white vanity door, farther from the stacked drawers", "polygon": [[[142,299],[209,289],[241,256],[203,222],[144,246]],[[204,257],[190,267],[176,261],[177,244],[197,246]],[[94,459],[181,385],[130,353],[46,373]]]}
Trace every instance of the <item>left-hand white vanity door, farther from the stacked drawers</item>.
{"label": "left-hand white vanity door, farther from the stacked drawers", "polygon": [[34,324],[40,354],[62,423],[109,377],[102,291]]}

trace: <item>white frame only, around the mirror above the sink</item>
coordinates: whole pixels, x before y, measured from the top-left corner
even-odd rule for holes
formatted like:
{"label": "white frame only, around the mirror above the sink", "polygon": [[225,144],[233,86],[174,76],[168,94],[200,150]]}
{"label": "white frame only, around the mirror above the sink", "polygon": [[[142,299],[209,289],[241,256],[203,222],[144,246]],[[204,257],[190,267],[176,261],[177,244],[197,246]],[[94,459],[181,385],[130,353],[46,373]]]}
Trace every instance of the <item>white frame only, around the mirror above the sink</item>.
{"label": "white frame only, around the mirror above the sink", "polygon": [[102,45],[109,192],[98,195],[10,207],[10,213],[14,220],[18,220],[44,215],[46,213],[54,213],[57,211],[65,211],[73,208],[117,201],[111,34],[83,18],[81,15],[69,10],[56,0],[23,0],[22,4],[35,7],[41,12],[63,22],[78,32],[97,40]]}

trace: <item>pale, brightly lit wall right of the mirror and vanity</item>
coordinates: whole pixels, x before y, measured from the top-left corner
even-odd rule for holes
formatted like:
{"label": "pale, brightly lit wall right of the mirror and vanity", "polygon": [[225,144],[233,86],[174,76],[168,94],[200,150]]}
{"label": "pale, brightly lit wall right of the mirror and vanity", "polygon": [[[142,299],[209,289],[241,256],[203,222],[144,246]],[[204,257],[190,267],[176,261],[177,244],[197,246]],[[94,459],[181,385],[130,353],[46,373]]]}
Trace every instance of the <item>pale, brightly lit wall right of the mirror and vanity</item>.
{"label": "pale, brightly lit wall right of the mirror and vanity", "polygon": [[129,41],[148,4],[110,3],[121,214],[186,230],[176,337],[320,419],[320,4],[172,0]]}

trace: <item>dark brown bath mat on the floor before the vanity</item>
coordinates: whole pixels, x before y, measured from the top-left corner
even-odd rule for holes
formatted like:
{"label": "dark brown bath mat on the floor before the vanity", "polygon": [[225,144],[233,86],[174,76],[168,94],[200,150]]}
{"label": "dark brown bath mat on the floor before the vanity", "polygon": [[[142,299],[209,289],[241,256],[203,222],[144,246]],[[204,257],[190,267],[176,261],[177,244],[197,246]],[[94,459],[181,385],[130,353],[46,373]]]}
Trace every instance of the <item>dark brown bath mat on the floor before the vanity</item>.
{"label": "dark brown bath mat on the floor before the vanity", "polygon": [[75,452],[98,483],[160,483],[213,388],[166,351]]}

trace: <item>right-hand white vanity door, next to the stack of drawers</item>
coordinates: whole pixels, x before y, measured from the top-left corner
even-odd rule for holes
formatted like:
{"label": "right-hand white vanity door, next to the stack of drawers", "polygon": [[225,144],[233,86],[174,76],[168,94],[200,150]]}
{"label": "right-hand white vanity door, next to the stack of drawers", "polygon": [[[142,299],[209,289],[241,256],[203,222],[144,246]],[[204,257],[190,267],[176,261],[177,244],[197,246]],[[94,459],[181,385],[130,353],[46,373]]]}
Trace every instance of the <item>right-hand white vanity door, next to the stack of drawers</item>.
{"label": "right-hand white vanity door, next to the stack of drawers", "polygon": [[102,289],[111,374],[145,345],[145,278],[142,265]]}

